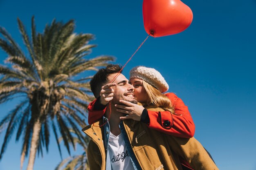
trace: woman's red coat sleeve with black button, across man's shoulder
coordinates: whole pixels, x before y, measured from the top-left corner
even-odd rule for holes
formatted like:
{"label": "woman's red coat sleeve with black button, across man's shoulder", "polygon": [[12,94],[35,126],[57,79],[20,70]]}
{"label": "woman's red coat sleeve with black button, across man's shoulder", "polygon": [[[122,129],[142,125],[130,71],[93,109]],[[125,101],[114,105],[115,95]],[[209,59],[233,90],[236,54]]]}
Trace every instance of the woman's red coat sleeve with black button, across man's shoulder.
{"label": "woman's red coat sleeve with black button, across man's shoulder", "polygon": [[168,111],[156,112],[148,110],[150,119],[148,127],[176,137],[193,137],[195,124],[188,107],[174,93],[166,93],[165,95],[171,100],[175,108],[175,114],[171,114]]}

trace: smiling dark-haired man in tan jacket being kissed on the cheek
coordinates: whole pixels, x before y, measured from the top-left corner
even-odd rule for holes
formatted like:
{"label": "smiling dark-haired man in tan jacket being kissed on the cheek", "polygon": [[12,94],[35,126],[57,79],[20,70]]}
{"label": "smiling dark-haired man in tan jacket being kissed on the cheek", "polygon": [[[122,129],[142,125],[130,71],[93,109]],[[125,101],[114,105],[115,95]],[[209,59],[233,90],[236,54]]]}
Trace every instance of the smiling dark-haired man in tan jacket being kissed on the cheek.
{"label": "smiling dark-haired man in tan jacket being kissed on the cheek", "polygon": [[[101,86],[113,81],[113,96],[103,120],[87,126],[83,131],[91,138],[88,162],[92,170],[182,170],[180,157],[194,169],[217,170],[202,145],[194,138],[184,139],[149,129],[146,124],[131,119],[121,121],[124,113],[117,112],[119,100],[137,103],[134,87],[119,74],[118,65],[100,69],[92,78],[94,96]],[[118,76],[117,76],[118,75]],[[162,111],[160,108],[151,108]]]}

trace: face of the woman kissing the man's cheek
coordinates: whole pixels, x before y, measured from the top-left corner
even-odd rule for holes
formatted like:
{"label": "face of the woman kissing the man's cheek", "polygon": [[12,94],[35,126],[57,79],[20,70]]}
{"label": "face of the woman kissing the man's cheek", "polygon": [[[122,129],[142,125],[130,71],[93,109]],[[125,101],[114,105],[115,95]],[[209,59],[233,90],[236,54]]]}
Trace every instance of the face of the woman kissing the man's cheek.
{"label": "face of the woman kissing the man's cheek", "polygon": [[148,101],[148,95],[143,86],[143,80],[139,78],[131,78],[130,83],[134,87],[134,97],[140,103],[146,103]]}

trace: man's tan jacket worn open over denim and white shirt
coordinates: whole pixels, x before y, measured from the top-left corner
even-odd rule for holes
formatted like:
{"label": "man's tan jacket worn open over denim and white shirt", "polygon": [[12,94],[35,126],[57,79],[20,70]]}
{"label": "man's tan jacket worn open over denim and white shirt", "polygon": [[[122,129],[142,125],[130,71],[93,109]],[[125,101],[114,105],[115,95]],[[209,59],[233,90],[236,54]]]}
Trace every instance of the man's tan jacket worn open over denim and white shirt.
{"label": "man's tan jacket worn open over denim and white shirt", "polygon": [[[150,110],[162,111],[161,108]],[[103,144],[103,121],[87,126],[83,132],[91,141],[88,145],[88,162],[91,170],[106,169],[106,152]],[[142,170],[182,170],[179,156],[188,161],[195,170],[218,170],[203,146],[194,138],[185,139],[166,135],[146,124],[131,119],[124,127],[132,150]]]}

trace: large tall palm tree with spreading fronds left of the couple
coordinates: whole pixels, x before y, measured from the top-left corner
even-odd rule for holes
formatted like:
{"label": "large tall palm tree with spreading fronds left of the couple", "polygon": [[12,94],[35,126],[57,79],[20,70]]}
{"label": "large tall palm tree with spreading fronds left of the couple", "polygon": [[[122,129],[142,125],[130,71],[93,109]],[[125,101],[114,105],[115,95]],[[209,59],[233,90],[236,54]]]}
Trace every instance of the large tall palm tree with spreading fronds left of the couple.
{"label": "large tall palm tree with spreading fronds left of the couple", "polygon": [[68,141],[74,147],[69,128],[81,139],[78,126],[85,126],[85,111],[93,97],[88,83],[90,77],[79,79],[77,75],[97,71],[98,66],[106,66],[113,57],[85,59],[95,46],[88,44],[94,36],[73,33],[73,20],[65,24],[53,20],[43,33],[36,33],[32,17],[31,40],[19,19],[18,26],[29,56],[25,56],[11,35],[0,27],[3,36],[0,47],[8,54],[6,62],[12,66],[0,65],[0,104],[22,97],[22,101],[0,121],[0,132],[6,128],[0,159],[16,131],[16,141],[22,136],[23,142],[21,169],[25,157],[29,156],[27,170],[33,170],[36,153],[43,155],[43,147],[48,152],[51,128],[60,153],[59,134],[69,153]]}

